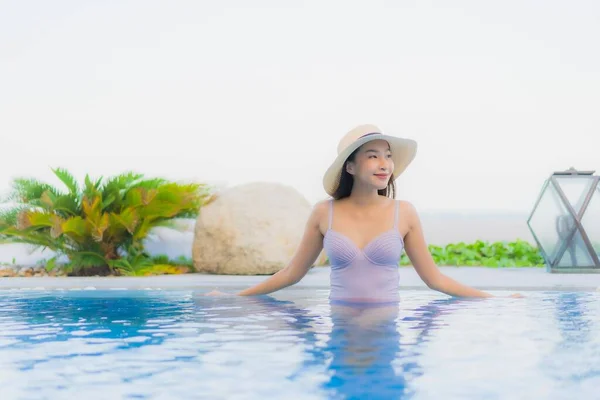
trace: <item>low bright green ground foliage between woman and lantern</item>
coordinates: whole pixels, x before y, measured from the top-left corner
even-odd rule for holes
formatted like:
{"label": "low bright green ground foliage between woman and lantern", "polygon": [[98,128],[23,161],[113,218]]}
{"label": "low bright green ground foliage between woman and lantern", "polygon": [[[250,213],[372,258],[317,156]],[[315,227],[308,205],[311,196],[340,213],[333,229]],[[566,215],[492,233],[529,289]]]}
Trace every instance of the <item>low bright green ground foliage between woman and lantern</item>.
{"label": "low bright green ground foliage between woman and lantern", "polygon": [[[437,265],[484,267],[542,267],[544,259],[539,250],[524,240],[514,242],[451,243],[445,247],[429,245]],[[406,254],[401,265],[410,265]]]}

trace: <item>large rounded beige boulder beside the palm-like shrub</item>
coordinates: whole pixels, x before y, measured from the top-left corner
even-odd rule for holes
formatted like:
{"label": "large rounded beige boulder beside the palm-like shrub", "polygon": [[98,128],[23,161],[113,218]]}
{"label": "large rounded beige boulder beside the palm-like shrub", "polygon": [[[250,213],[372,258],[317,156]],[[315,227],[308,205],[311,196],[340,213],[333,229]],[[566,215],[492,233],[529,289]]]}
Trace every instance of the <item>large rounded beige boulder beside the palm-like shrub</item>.
{"label": "large rounded beige boulder beside the palm-like shrub", "polygon": [[[300,244],[311,206],[295,189],[250,183],[221,192],[200,210],[192,258],[199,272],[273,274]],[[321,253],[317,264],[324,262]]]}

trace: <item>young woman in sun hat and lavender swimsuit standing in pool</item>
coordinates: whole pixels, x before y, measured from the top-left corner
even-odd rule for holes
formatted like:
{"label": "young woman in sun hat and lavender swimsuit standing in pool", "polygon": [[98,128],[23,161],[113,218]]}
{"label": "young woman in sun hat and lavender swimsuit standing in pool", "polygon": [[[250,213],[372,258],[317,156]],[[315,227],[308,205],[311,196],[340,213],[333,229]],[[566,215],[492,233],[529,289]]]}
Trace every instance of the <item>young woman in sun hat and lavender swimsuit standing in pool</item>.
{"label": "young woman in sun hat and lavender swimsuit standing in pool", "polygon": [[399,300],[403,250],[431,289],[456,297],[492,297],[442,274],[427,249],[417,211],[407,201],[394,200],[394,181],[415,157],[414,140],[360,125],[342,138],[337,150],[323,177],[332,199],[313,208],[289,264],[238,295],[268,294],[299,282],[325,248],[332,301]]}

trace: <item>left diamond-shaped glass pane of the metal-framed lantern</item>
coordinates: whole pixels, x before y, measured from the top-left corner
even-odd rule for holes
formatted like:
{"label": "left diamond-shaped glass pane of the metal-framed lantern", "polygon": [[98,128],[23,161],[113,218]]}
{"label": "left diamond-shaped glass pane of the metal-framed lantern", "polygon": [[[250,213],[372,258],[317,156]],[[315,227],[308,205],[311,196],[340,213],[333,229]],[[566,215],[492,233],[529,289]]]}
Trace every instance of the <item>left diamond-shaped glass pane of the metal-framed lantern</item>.
{"label": "left diamond-shaped glass pane of the metal-framed lantern", "polygon": [[546,254],[546,262],[556,259],[559,244],[575,229],[575,219],[567,211],[552,182],[546,185],[537,207],[529,219],[529,227]]}

